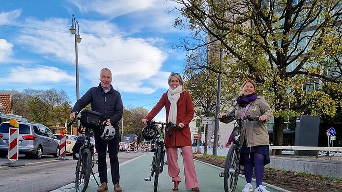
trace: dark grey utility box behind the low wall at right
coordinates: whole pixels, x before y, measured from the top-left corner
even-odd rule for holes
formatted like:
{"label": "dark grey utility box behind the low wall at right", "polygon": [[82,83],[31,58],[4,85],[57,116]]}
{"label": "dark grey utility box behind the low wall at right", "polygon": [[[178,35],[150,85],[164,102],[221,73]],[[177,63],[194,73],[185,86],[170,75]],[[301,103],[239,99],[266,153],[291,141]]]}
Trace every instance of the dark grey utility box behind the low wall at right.
{"label": "dark grey utility box behind the low wall at right", "polygon": [[[301,115],[296,118],[294,146],[317,147],[319,132],[319,116]],[[314,156],[315,151],[296,150],[297,156]]]}

